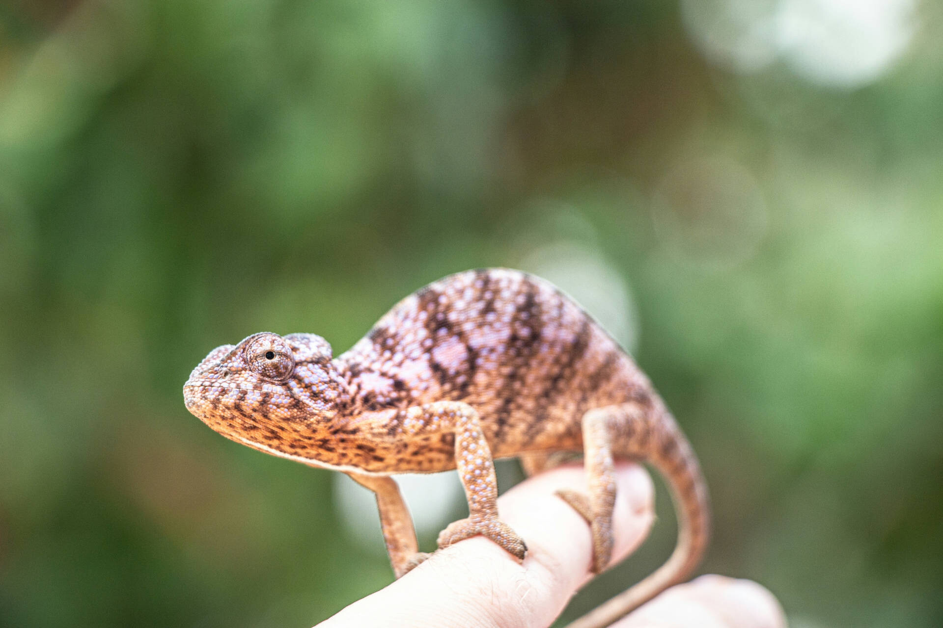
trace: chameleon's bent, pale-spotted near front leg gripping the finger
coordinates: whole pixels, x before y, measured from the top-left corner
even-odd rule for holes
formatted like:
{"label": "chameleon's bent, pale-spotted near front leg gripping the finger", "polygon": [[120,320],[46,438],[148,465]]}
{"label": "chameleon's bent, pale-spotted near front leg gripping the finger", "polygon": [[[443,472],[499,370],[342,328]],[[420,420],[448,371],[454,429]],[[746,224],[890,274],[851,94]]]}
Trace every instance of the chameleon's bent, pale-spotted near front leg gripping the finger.
{"label": "chameleon's bent, pale-spotted near front leg gripping the finger", "polygon": [[456,401],[439,401],[406,411],[405,429],[419,430],[438,424],[455,432],[455,465],[469,502],[469,516],[449,524],[438,535],[438,547],[448,547],[462,539],[482,535],[500,545],[508,554],[523,560],[527,545],[506,523],[498,519],[498,480],[488,441],[481,429],[478,412]]}

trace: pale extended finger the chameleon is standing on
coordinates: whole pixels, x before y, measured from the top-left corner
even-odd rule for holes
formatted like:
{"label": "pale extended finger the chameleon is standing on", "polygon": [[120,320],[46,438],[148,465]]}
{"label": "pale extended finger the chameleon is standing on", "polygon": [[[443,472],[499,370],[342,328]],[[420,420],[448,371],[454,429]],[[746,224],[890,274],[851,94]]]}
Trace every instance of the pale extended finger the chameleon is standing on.
{"label": "pale extended finger the chameleon is standing on", "polygon": [[[645,538],[653,521],[652,480],[636,464],[620,463],[613,512],[613,562]],[[500,547],[472,537],[437,552],[412,572],[320,624],[351,626],[502,626],[544,628],[587,582],[592,560],[589,525],[554,491],[586,490],[581,467],[537,475],[498,500],[501,518],[527,543],[518,563]]]}

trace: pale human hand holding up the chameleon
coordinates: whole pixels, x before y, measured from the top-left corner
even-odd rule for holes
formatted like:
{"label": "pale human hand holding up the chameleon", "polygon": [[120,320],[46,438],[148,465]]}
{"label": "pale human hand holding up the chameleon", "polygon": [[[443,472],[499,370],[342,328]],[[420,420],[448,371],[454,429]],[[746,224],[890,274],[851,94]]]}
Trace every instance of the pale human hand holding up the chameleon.
{"label": "pale human hand holding up the chameleon", "polygon": [[[613,562],[642,542],[653,522],[652,480],[636,464],[617,466]],[[586,521],[559,489],[584,490],[580,467],[532,477],[498,500],[502,520],[527,540],[518,564],[482,537],[438,551],[412,572],[318,624],[318,628],[546,628],[592,577]],[[614,628],[785,628],[776,599],[746,580],[711,575],[670,588]]]}

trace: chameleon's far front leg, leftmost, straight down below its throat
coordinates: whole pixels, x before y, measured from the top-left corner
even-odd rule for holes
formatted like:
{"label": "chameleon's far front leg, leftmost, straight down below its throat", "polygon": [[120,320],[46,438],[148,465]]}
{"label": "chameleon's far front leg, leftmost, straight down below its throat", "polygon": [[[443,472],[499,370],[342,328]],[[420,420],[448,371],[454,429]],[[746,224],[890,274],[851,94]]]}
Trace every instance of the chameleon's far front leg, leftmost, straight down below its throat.
{"label": "chameleon's far front leg, leftmost, straight down below its throat", "polygon": [[404,576],[429,555],[419,551],[416,530],[403,496],[400,495],[400,488],[392,477],[386,475],[347,475],[360,486],[376,494],[376,506],[380,510],[380,527],[387,543],[389,563],[397,578]]}

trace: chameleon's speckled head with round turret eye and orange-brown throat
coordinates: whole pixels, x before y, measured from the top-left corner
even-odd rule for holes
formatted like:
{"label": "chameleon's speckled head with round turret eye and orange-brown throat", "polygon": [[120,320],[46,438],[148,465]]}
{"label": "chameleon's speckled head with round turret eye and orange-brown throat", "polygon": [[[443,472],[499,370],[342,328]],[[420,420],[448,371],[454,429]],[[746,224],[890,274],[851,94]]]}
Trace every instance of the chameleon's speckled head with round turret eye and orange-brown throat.
{"label": "chameleon's speckled head with round turret eye and orange-brown throat", "polygon": [[256,333],[218,346],[183,387],[187,410],[228,439],[286,458],[311,458],[307,443],[341,409],[346,384],[331,346],[309,333]]}

